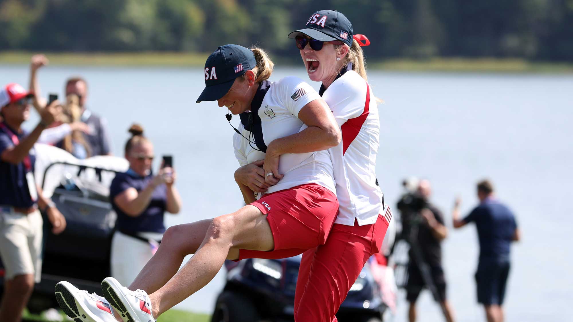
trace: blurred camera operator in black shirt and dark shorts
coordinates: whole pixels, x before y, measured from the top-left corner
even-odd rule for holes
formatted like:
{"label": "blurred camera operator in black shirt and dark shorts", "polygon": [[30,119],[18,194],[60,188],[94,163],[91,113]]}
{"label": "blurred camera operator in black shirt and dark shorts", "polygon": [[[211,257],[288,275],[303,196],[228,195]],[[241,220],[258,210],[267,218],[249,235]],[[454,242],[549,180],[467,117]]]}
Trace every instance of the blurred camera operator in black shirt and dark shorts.
{"label": "blurred camera operator in black shirt and dark shorts", "polygon": [[406,299],[410,302],[409,320],[416,320],[416,300],[423,288],[431,291],[444,312],[453,321],[453,310],[446,301],[446,279],[442,268],[441,241],[448,230],[441,211],[429,202],[430,182],[420,180],[416,191],[406,193],[398,202],[402,215],[402,238],[410,244]]}

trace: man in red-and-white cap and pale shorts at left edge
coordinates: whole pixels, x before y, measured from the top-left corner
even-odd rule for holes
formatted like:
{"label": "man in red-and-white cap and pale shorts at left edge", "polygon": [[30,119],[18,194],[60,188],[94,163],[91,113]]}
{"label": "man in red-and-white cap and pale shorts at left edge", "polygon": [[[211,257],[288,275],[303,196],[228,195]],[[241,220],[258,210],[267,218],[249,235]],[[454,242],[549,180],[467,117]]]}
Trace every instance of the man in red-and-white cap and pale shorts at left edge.
{"label": "man in red-and-white cap and pale shorts at left edge", "polygon": [[66,222],[54,203],[42,195],[34,180],[34,143],[54,121],[54,101],[41,110],[41,121],[30,133],[21,128],[30,117],[32,94],[18,84],[0,90],[0,256],[4,264],[4,295],[0,321],[17,322],[28,303],[34,282],[41,277],[42,215],[46,211],[52,232]]}

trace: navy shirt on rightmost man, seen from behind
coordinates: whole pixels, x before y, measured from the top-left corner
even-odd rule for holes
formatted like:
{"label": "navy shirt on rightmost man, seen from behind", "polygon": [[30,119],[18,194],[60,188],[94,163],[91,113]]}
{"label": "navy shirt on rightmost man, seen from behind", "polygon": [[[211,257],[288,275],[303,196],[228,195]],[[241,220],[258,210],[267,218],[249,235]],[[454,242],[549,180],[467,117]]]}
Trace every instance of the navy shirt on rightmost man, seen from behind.
{"label": "navy shirt on rightmost man, seen from behind", "polygon": [[468,217],[475,222],[480,241],[480,258],[508,258],[509,246],[517,228],[515,216],[505,205],[492,198],[485,199]]}

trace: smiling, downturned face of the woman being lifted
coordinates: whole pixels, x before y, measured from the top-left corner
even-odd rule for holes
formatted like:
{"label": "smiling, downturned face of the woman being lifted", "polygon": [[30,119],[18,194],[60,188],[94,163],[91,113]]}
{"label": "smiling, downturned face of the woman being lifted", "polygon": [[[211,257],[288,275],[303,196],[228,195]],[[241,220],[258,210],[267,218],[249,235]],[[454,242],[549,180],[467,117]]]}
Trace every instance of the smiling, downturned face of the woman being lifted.
{"label": "smiling, downturned face of the woman being lifted", "polygon": [[244,77],[237,77],[233,86],[217,100],[219,107],[226,107],[233,115],[240,114],[250,109],[251,101],[257,90],[255,74],[253,70],[247,70]]}

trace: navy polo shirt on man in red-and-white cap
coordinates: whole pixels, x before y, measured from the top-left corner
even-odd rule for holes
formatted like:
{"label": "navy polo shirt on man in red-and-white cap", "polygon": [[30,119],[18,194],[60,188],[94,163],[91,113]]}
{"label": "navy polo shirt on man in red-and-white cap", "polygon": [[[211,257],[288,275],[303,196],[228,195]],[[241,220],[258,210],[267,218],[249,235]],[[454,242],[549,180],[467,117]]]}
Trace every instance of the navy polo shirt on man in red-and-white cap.
{"label": "navy polo shirt on man in red-and-white cap", "polygon": [[[18,133],[6,123],[2,124],[18,137],[19,142],[22,142],[28,136],[28,132],[22,130],[22,132]],[[0,155],[7,148],[14,146],[11,133],[6,133],[6,129],[0,128]],[[34,163],[36,162],[35,154],[34,148],[30,149],[29,156],[30,163],[32,163],[32,171],[34,171]],[[35,202],[30,198],[30,191],[28,191],[26,167],[23,161],[18,164],[11,164],[0,159],[0,178],[0,205],[21,208],[28,208],[34,205]]]}

